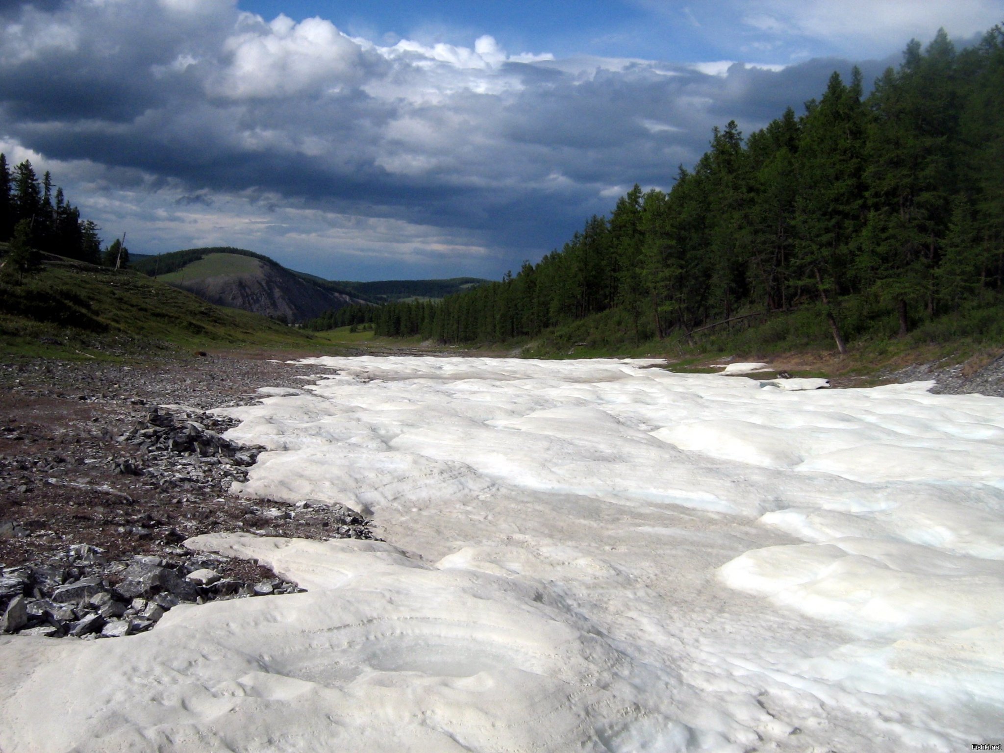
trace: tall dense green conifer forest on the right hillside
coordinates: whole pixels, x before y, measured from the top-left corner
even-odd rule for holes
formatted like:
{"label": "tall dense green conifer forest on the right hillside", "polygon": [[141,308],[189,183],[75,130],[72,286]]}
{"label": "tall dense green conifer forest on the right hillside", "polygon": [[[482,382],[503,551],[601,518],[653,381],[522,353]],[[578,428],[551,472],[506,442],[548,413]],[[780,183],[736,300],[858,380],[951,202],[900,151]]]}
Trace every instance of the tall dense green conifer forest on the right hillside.
{"label": "tall dense green conifer forest on the right hillside", "polygon": [[636,186],[560,251],[441,304],[394,303],[375,331],[448,342],[536,335],[618,308],[634,336],[808,308],[834,337],[903,335],[999,301],[1004,29],[957,52],[912,41],[862,95],[818,100],[743,139],[715,129],[669,193]]}

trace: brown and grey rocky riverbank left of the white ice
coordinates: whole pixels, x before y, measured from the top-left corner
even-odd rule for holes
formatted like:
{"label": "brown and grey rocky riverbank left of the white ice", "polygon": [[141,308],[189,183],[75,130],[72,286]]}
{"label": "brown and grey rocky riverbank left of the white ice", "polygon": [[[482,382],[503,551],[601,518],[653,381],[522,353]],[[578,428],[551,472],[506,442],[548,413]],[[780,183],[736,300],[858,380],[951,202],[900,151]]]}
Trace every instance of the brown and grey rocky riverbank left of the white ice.
{"label": "brown and grey rocky riverbank left of the white ice", "polygon": [[348,508],[230,493],[262,448],[224,439],[233,422],[205,411],[315,370],[210,356],[0,365],[0,631],[122,636],[182,602],[297,590],[182,546],[203,533],[372,538]]}

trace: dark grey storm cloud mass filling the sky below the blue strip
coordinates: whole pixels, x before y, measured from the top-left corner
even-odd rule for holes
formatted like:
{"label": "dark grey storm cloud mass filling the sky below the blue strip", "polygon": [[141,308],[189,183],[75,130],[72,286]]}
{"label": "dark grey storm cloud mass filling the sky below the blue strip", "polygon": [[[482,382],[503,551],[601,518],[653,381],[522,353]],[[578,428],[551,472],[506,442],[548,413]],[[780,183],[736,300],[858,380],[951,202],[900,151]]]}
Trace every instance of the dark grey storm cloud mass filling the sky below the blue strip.
{"label": "dark grey storm cloud mass filling the sky below the blue strip", "polygon": [[[230,0],[0,13],[0,137],[47,160],[103,166],[86,187],[108,198],[92,203],[120,222],[133,207],[152,243],[168,246],[155,250],[192,245],[192,227],[208,233],[240,216],[260,228],[263,250],[295,256],[316,240],[314,257],[350,254],[369,247],[370,232],[373,253],[411,258],[428,243],[423,263],[440,254],[456,268],[467,253],[488,274],[559,246],[636,182],[669,188],[713,126],[734,118],[749,133],[785,106],[800,111],[834,68],[849,72],[838,60],[710,73],[513,58],[489,37],[474,49],[381,48],[320,19],[268,24]],[[248,220],[264,206],[292,214]],[[313,235],[294,227],[307,216]],[[347,229],[330,236],[325,222]],[[339,246],[345,238],[356,245]]]}

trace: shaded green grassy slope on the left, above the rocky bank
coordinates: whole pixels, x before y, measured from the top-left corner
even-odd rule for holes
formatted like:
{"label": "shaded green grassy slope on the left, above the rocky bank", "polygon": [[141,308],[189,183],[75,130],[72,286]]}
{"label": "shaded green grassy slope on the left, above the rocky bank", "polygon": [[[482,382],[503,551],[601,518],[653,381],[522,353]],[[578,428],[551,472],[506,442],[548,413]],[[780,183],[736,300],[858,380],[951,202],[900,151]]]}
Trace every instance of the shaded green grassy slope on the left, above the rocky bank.
{"label": "shaded green grassy slope on the left, above the rocky bank", "polygon": [[0,282],[0,353],[108,357],[179,349],[323,349],[320,335],[214,306],[129,270],[50,261],[20,285]]}

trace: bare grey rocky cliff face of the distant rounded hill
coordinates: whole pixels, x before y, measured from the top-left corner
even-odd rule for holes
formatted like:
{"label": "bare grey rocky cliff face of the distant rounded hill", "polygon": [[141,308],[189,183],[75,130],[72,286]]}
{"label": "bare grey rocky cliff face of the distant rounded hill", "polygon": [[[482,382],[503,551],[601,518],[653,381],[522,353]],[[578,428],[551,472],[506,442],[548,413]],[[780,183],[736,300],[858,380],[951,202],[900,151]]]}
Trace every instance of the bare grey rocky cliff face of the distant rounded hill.
{"label": "bare grey rocky cliff face of the distant rounded hill", "polygon": [[286,321],[304,321],[329,308],[362,301],[324,290],[284,269],[254,260],[255,271],[205,277],[174,283],[210,303],[274,316]]}

